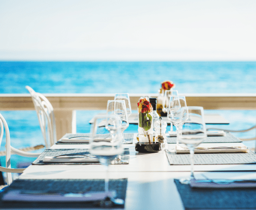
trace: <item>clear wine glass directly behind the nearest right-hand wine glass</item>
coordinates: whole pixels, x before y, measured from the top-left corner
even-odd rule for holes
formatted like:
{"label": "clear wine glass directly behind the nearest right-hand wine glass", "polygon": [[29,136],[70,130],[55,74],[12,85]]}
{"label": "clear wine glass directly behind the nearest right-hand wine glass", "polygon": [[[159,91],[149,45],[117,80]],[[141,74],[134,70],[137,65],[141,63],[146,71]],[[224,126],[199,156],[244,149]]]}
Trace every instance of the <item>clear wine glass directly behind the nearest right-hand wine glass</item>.
{"label": "clear wine glass directly behind the nearest right-hand wine glass", "polygon": [[168,119],[176,127],[177,130],[177,146],[179,145],[179,131],[182,129],[182,125],[187,120],[186,109],[186,98],[185,96],[171,96],[169,101],[169,108],[167,112]]}

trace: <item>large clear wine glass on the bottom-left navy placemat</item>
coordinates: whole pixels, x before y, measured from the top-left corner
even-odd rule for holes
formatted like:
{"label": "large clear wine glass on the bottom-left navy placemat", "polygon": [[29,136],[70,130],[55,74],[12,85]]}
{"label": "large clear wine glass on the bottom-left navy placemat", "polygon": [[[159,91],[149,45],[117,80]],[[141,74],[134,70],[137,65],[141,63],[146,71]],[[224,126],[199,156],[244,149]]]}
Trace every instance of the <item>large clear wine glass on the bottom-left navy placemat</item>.
{"label": "large clear wine glass on the bottom-left navy placemat", "polygon": [[[115,132],[110,134],[107,127],[110,125]],[[104,205],[111,205],[111,202],[116,202],[113,194],[108,190],[108,165],[113,161],[117,155],[122,154],[122,139],[120,135],[120,119],[115,115],[101,115],[94,118],[91,126],[90,139],[90,154],[96,156],[100,163],[106,167],[105,178],[105,203]],[[111,201],[109,203],[109,200]]]}

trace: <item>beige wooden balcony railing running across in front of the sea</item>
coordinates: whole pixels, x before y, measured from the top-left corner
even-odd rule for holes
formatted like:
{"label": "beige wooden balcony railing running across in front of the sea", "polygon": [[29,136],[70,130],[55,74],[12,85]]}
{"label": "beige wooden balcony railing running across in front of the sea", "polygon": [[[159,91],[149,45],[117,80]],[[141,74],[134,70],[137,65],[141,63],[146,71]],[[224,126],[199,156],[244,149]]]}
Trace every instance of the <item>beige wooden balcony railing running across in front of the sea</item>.
{"label": "beige wooden balcony railing running across in front of the sea", "polygon": [[[54,108],[57,139],[65,133],[76,132],[75,110],[105,110],[107,100],[115,94],[44,94]],[[180,94],[186,96],[187,106],[205,110],[256,110],[256,94]],[[131,106],[137,109],[140,97],[157,94],[130,94]],[[0,94],[0,110],[35,110],[29,94]]]}

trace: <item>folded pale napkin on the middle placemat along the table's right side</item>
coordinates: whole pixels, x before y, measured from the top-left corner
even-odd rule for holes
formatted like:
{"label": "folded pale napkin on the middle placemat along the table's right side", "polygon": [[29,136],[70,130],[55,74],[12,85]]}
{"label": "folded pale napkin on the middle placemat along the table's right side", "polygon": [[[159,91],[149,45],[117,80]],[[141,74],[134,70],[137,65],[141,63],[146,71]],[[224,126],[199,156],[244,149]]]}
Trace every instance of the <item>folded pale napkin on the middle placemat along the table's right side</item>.
{"label": "folded pale napkin on the middle placemat along the table's right side", "polygon": [[[176,145],[176,153],[189,153],[189,149],[187,147],[183,147],[180,145]],[[195,153],[232,153],[232,152],[249,152],[249,149],[243,145],[232,145],[232,147],[225,147],[225,146],[209,146],[203,145],[200,147],[197,147],[195,150]]]}

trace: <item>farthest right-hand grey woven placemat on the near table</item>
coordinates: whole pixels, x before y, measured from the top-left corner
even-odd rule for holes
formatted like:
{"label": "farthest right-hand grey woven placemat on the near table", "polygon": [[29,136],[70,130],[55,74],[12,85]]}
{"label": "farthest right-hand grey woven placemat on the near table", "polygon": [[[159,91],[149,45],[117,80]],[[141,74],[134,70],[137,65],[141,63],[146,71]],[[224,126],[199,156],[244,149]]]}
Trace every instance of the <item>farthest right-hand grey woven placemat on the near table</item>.
{"label": "farthest right-hand grey woven placemat on the near table", "polygon": [[[166,134],[168,135],[168,133]],[[176,144],[177,137],[167,136],[168,144]],[[203,143],[236,143],[242,142],[239,138],[233,136],[231,133],[226,133],[226,136],[207,136]],[[181,143],[181,141],[179,141]]]}

